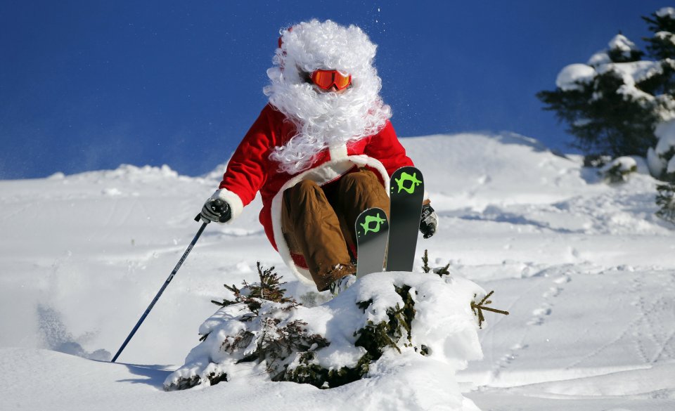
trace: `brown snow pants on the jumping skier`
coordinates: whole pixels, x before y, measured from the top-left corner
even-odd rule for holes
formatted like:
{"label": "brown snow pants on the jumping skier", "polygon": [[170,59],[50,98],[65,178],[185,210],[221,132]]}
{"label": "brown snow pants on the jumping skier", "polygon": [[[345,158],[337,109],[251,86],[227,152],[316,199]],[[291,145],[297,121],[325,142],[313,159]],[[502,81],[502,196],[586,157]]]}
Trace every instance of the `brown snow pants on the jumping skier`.
{"label": "brown snow pants on the jumping skier", "polygon": [[356,273],[349,246],[356,244],[356,217],[370,207],[389,216],[387,192],[368,169],[323,186],[304,180],[284,191],[281,229],[290,252],[304,256],[319,291]]}

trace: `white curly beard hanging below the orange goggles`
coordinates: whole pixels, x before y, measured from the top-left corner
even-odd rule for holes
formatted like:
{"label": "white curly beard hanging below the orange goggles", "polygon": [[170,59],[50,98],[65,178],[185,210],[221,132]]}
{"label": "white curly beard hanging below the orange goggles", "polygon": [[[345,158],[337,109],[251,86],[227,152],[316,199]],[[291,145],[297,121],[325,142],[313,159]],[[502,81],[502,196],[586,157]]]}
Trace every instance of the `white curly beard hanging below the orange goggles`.
{"label": "white curly beard hanging below the orange goggles", "polygon": [[[288,174],[304,171],[322,150],[372,136],[391,117],[390,107],[378,95],[380,79],[376,74],[371,79],[355,79],[350,89],[333,93],[318,91],[307,83],[284,81],[283,72],[274,70],[278,69],[268,71],[272,82],[265,93],[297,130],[288,143],[275,148],[270,155],[270,159],[279,163],[280,171]],[[278,74],[276,79],[274,74]]]}

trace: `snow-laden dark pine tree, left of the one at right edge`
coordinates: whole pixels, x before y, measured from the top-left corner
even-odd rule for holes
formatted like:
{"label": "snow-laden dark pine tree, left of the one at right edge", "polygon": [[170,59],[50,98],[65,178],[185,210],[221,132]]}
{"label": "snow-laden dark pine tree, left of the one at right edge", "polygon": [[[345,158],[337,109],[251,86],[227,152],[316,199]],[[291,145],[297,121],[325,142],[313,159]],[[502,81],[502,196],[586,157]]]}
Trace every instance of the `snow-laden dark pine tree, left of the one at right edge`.
{"label": "snow-laden dark pine tree, left of the one at right edge", "polygon": [[572,145],[587,155],[644,156],[655,143],[658,119],[654,98],[644,88],[654,84],[639,70],[643,52],[632,41],[617,34],[608,46],[585,65],[563,68],[557,88],[536,96],[546,104],[544,110],[568,125],[576,137]]}

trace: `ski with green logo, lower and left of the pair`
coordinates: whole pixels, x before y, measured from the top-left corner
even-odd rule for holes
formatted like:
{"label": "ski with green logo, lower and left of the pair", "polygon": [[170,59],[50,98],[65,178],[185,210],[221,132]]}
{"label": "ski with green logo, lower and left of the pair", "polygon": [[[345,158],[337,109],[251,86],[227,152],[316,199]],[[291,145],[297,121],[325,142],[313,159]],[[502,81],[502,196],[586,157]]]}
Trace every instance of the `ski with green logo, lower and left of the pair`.
{"label": "ski with green logo, lower and left of the pair", "polygon": [[389,222],[383,209],[373,207],[356,218],[356,278],[384,270]]}

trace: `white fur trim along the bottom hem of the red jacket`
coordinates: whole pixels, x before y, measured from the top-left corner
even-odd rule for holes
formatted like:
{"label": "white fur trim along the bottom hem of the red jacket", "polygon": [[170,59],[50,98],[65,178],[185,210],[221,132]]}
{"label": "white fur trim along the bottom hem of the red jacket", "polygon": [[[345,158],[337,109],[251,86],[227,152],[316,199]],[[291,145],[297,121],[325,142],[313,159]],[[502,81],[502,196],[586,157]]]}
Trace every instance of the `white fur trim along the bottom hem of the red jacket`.
{"label": "white fur trim along the bottom hem of the red jacket", "polygon": [[[309,270],[295,265],[293,257],[290,255],[288,244],[286,243],[286,240],[283,237],[283,233],[281,231],[281,205],[283,203],[283,191],[287,188],[293,187],[297,183],[300,183],[300,181],[307,180],[308,178],[315,181],[319,185],[328,183],[329,181],[335,180],[335,178],[338,178],[340,175],[345,174],[354,166],[368,166],[376,169],[380,172],[380,175],[385,182],[385,187],[389,186],[389,174],[387,174],[387,170],[381,162],[379,162],[377,159],[374,159],[373,157],[368,157],[367,155],[352,155],[333,159],[330,162],[321,164],[321,166],[316,167],[315,169],[309,169],[301,174],[298,174],[297,176],[294,176],[289,181],[287,181],[283,187],[281,187],[279,192],[274,196],[274,200],[272,200],[272,228],[274,230],[274,242],[276,242],[276,248],[278,249],[279,255],[281,255],[281,258],[283,259],[286,266],[288,266],[291,272],[305,284],[314,285],[314,280],[311,279]],[[342,174],[336,175],[335,170],[344,171],[342,171]],[[328,176],[333,176],[333,178],[328,178]],[[387,195],[389,195],[388,190],[385,191],[387,191]]]}

